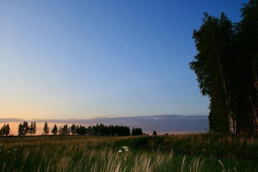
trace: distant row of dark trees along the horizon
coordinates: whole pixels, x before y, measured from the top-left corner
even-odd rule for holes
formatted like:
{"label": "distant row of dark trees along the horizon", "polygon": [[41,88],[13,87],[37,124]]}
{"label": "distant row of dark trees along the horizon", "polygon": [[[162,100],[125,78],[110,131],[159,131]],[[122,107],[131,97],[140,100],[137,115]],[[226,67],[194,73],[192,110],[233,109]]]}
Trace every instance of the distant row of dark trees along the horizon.
{"label": "distant row of dark trees along the horizon", "polygon": [[[36,122],[31,122],[30,125],[27,121],[18,125],[18,136],[35,135],[36,133]],[[48,122],[45,122],[41,135],[49,135],[50,129]],[[58,127],[56,124],[51,130],[53,135],[106,135],[106,136],[140,136],[143,135],[142,128],[133,127],[132,133],[128,126],[123,125],[104,125],[102,123],[97,125],[90,125],[85,127],[83,125],[72,124],[68,126],[65,124]],[[10,135],[9,124],[4,124],[0,130],[0,136]]]}

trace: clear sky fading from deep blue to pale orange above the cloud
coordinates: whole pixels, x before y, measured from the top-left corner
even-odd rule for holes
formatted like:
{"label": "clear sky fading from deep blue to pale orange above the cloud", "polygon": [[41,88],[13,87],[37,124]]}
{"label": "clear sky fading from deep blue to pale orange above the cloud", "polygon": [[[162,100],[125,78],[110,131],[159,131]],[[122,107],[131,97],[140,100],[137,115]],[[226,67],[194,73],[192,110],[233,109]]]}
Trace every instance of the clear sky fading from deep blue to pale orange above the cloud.
{"label": "clear sky fading from deep blue to pale orange above the cloud", "polygon": [[0,1],[0,118],[207,116],[193,29],[244,2]]}

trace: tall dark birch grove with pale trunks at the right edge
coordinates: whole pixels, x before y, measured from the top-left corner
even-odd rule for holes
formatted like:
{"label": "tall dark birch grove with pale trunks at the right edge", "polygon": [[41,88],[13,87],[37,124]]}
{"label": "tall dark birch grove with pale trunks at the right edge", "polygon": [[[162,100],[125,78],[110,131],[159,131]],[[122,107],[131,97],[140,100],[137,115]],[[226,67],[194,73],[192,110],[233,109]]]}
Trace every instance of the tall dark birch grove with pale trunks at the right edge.
{"label": "tall dark birch grove with pale trunks at the right edge", "polygon": [[197,55],[190,63],[203,96],[210,98],[209,130],[216,133],[258,133],[258,1],[241,9],[232,23],[204,13],[194,30]]}

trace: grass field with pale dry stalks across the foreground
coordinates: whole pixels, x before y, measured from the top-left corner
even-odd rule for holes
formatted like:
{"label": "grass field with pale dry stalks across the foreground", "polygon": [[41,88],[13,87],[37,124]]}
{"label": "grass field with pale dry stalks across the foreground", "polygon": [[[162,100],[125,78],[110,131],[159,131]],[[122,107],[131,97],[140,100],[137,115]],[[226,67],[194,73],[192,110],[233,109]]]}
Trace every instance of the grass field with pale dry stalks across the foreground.
{"label": "grass field with pale dry stalks across the foreground", "polygon": [[258,171],[254,136],[14,137],[0,150],[1,171]]}

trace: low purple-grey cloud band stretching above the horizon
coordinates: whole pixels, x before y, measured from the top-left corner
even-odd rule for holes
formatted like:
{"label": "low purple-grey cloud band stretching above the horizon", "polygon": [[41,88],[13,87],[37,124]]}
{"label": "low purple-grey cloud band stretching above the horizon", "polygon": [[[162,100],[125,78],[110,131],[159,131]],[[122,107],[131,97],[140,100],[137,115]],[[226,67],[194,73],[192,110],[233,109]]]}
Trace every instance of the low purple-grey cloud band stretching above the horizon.
{"label": "low purple-grey cloud band stretching above the horizon", "polygon": [[36,121],[64,124],[93,125],[96,123],[117,124],[133,127],[141,127],[144,133],[152,133],[156,130],[158,134],[163,133],[202,133],[208,128],[208,117],[206,115],[146,115],[146,116],[103,116],[92,119],[19,119],[0,118],[0,123]]}

